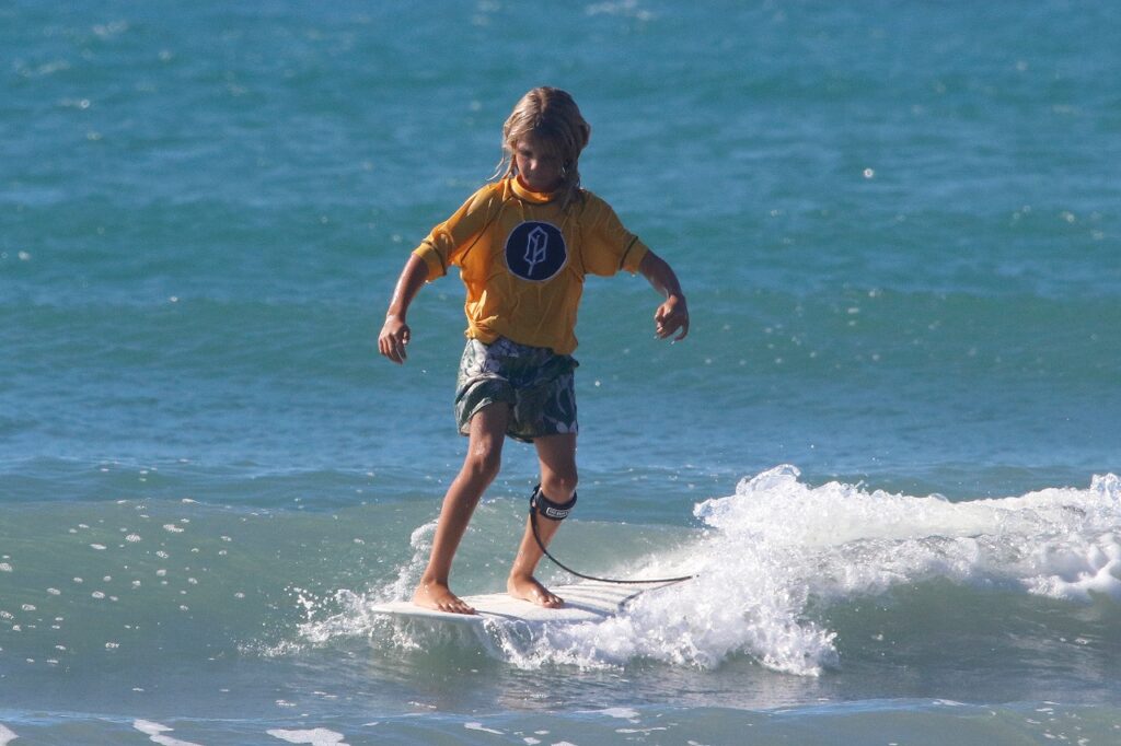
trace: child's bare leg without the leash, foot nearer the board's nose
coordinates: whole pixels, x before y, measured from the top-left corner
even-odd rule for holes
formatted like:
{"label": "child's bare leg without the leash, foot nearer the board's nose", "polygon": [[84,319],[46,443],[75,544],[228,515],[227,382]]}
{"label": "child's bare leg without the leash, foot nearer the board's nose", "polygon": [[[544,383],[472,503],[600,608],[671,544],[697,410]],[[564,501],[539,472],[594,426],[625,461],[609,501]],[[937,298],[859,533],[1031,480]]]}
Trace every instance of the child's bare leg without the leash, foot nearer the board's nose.
{"label": "child's bare leg without the leash, foot nearer the board's nose", "polygon": [[436,522],[428,567],[420,577],[413,603],[427,608],[457,614],[474,614],[448,587],[452,560],[467,529],[479,498],[498,476],[502,461],[502,442],[510,419],[510,407],[488,404],[471,418],[467,456],[463,468],[447,488]]}

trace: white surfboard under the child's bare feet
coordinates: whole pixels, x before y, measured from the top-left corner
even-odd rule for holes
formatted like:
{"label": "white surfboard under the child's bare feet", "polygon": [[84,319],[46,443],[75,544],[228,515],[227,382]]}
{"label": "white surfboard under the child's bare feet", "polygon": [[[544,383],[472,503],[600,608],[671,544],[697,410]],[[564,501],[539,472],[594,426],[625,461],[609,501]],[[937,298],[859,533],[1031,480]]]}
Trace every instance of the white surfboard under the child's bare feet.
{"label": "white surfboard under the child's bare feet", "polygon": [[[660,588],[663,586],[655,586]],[[560,608],[545,608],[527,600],[511,598],[502,594],[463,596],[475,609],[475,614],[451,614],[417,606],[413,602],[387,602],[370,608],[374,614],[387,614],[410,619],[451,622],[456,624],[483,625],[494,623],[528,623],[532,625],[559,623],[580,624],[600,622],[619,614],[627,603],[650,590],[650,586],[623,586],[609,582],[577,582],[569,586],[554,586],[553,593],[564,599]]]}

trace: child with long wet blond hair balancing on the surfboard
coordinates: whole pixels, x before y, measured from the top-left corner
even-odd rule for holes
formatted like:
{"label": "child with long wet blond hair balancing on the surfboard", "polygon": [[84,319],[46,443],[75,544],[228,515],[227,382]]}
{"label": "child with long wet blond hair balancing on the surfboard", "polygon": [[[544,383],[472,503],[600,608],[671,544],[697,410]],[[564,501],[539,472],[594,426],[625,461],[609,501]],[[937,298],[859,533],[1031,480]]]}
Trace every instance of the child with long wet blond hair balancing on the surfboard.
{"label": "child with long wet blond hair balancing on the surfboard", "polygon": [[[457,267],[466,286],[466,348],[455,414],[467,455],[444,496],[432,556],[414,603],[473,614],[452,593],[452,560],[475,505],[499,473],[509,436],[532,442],[540,484],[530,498],[541,542],[576,504],[576,311],[586,274],[640,272],[665,300],[659,338],[684,339],[689,313],[677,276],[627,231],[608,203],[583,189],[577,168],[591,127],[558,88],[528,92],[502,129],[502,176],[475,192],[413,252],[397,281],[379,352],[404,363],[406,316],[426,281]],[[545,607],[563,599],[534,577],[541,550],[526,522],[508,593]]]}

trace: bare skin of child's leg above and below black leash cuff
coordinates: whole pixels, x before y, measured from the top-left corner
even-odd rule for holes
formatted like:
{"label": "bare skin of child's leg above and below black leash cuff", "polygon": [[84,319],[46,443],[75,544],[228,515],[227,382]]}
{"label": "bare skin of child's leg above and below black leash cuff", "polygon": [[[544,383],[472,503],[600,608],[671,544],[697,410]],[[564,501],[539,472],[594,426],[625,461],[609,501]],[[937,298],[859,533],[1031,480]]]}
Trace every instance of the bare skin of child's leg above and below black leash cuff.
{"label": "bare skin of child's leg above and below black leash cuff", "polygon": [[[541,494],[554,503],[566,503],[576,494],[576,435],[562,433],[544,436],[534,440],[537,447],[537,458],[541,465]],[[560,528],[560,521],[554,521],[540,513],[537,514],[537,533],[541,543],[548,547],[553,535]],[[541,548],[534,538],[534,525],[526,520],[518,556],[510,568],[510,577],[506,587],[515,598],[524,598],[538,606],[556,608],[564,606],[564,599],[550,593],[543,586],[534,571],[543,557]]]}

